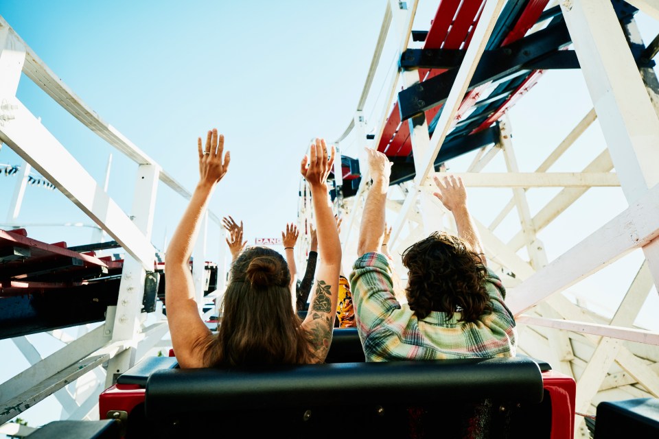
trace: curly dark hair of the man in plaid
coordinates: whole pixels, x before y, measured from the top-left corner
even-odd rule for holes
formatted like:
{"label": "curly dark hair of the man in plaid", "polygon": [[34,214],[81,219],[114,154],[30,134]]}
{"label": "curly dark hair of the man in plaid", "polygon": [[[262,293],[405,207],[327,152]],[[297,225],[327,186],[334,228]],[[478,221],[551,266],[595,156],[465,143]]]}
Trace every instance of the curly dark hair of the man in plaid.
{"label": "curly dark hair of the man in plaid", "polygon": [[435,232],[403,252],[403,265],[409,270],[405,289],[410,309],[417,318],[430,311],[453,317],[461,313],[461,322],[474,322],[492,312],[483,279],[487,269],[481,254],[454,235]]}

